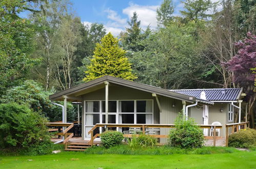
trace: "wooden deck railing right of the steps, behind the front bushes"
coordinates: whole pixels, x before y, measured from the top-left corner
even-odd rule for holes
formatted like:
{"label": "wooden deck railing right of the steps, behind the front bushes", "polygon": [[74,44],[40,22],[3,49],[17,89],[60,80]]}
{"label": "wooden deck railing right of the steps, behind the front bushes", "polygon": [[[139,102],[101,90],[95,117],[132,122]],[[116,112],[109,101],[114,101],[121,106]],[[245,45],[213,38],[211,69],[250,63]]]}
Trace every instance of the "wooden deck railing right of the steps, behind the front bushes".
{"label": "wooden deck railing right of the steps, behind the front bushes", "polygon": [[[216,129],[222,129],[222,125],[212,125],[212,124],[198,124],[201,129],[212,129],[213,130],[213,136],[205,136],[207,139],[213,139],[213,146],[216,145],[216,139],[220,139],[221,137],[216,136]],[[93,131],[96,128],[99,127],[105,127],[105,128],[142,128],[142,134],[146,133],[146,128],[175,128],[175,124],[114,124],[114,123],[104,123],[100,124],[97,123],[93,126],[93,128],[88,132],[88,134],[91,135],[90,145],[93,145],[93,140],[96,137],[101,136],[101,134],[95,134],[93,136]],[[125,138],[131,138],[132,134],[123,134]],[[139,136],[139,135],[137,135]],[[168,135],[150,135],[155,138],[168,138]]]}

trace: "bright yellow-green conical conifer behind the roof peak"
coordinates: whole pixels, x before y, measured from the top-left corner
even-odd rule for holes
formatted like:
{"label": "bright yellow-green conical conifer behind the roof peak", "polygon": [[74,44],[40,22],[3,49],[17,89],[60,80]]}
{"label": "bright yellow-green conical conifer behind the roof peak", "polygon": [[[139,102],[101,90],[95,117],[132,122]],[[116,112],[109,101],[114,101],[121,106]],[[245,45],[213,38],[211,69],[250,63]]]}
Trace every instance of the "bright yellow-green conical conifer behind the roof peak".
{"label": "bright yellow-green conical conifer behind the roof peak", "polygon": [[84,81],[90,81],[105,75],[134,80],[131,64],[125,57],[126,51],[119,47],[119,41],[111,33],[105,35],[100,44],[96,44],[91,64],[85,72]]}

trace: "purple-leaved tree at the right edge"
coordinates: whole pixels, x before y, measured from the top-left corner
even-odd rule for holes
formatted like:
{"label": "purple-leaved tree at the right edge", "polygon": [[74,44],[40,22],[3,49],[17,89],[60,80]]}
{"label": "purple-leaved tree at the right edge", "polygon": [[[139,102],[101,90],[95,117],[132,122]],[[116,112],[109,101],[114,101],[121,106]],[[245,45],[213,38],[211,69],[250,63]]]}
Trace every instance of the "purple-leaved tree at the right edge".
{"label": "purple-leaved tree at the right edge", "polygon": [[238,53],[228,62],[222,63],[227,66],[233,73],[233,81],[244,88],[246,100],[249,102],[249,114],[252,128],[254,128],[254,112],[253,107],[256,101],[254,90],[255,75],[250,70],[256,65],[256,36],[250,32],[247,38],[235,44]]}

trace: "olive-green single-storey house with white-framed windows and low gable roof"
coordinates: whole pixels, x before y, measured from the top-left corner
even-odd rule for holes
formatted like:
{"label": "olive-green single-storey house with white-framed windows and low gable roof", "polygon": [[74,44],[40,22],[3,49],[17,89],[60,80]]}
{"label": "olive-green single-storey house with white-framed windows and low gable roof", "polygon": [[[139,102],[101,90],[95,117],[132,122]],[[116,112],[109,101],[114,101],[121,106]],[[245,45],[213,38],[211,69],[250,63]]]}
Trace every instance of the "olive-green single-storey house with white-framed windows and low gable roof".
{"label": "olive-green single-storey house with white-framed windows and low gable roof", "polygon": [[[199,97],[202,91],[207,99]],[[49,98],[64,101],[64,122],[67,121],[67,101],[82,102],[82,139],[87,140],[90,139],[88,131],[96,123],[173,124],[181,112],[203,124],[204,105],[209,107],[209,124],[213,121],[233,122],[234,108],[241,108],[241,94],[242,89],[165,90],[107,75]],[[239,107],[235,105],[237,103]],[[116,130],[125,132],[129,128]],[[159,129],[159,134],[168,135],[169,130]],[[220,136],[225,136],[225,129],[222,131]]]}

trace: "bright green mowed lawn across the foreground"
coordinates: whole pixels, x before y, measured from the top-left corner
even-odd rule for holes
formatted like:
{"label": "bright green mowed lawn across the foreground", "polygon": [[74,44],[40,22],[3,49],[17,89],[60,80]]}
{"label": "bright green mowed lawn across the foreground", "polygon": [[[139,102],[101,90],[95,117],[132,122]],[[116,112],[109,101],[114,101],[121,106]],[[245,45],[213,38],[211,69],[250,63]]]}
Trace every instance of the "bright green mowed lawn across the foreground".
{"label": "bright green mowed lawn across the foreground", "polygon": [[[32,160],[32,161],[31,161]],[[256,168],[256,151],[211,155],[87,155],[62,152],[44,156],[0,156],[0,168]]]}

